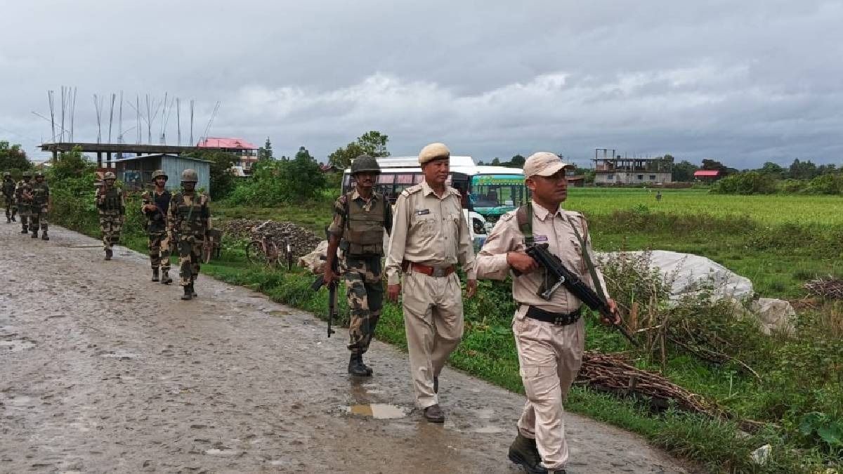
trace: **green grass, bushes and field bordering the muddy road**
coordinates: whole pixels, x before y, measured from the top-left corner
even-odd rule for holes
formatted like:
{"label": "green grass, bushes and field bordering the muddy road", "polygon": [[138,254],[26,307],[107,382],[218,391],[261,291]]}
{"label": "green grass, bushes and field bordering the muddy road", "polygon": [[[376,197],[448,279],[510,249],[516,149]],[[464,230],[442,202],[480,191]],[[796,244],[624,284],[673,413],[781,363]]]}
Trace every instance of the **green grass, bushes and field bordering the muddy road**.
{"label": "green grass, bushes and field bordering the muddy road", "polygon": [[[266,170],[276,166],[268,165]],[[67,154],[49,173],[55,201],[52,222],[99,237],[91,165],[81,155]],[[266,182],[282,175],[272,172]],[[291,220],[321,234],[339,187],[336,178],[329,179],[333,180],[330,185],[314,186],[302,202],[287,197],[273,207],[259,206],[260,198],[241,190],[244,184],[240,183],[228,197],[212,204],[212,213],[218,219]],[[252,191],[262,190],[253,187]],[[843,305],[807,299],[802,285],[815,276],[843,275],[843,199],[734,197],[699,190],[662,193],[663,199],[656,202],[653,192],[641,189],[572,189],[566,207],[586,213],[598,250],[652,248],[708,256],[752,279],[757,293],[792,300],[799,308],[795,331],[764,336],[751,320],[738,317],[733,306],[705,299],[670,306],[658,290],[663,284],[658,278],[634,266],[611,267],[609,263],[610,291],[627,310],[639,302],[657,320],[688,328],[711,342],[712,350],[728,357],[706,360],[671,342],[636,351],[615,331],[595,324],[594,318],[588,318],[587,349],[624,353],[637,368],[660,371],[668,380],[701,395],[722,416],[690,414],[669,406],[653,409],[647,400],[584,386],[574,388],[566,409],[642,434],[706,471],[840,471]],[[123,242],[146,251],[137,197],[129,197],[127,206]],[[250,266],[243,249],[243,241],[225,240],[222,257],[203,266],[202,272],[325,317],[327,294],[310,291],[313,275],[302,269],[287,272]],[[631,292],[630,288],[637,289]],[[477,298],[466,300],[464,341],[450,363],[523,393],[510,329],[514,307],[509,287],[481,282],[478,289]],[[342,298],[340,313],[346,317]],[[381,321],[377,337],[405,348],[400,306],[387,303]],[[758,464],[750,454],[765,444],[771,445],[770,455]]]}

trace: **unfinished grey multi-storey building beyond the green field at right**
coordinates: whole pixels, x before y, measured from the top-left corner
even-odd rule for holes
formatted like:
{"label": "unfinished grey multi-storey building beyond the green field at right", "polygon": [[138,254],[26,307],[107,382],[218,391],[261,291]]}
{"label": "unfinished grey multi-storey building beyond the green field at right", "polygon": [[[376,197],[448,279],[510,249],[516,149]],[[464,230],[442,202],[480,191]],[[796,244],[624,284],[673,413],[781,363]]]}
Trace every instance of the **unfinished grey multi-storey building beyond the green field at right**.
{"label": "unfinished grey multi-storey building beyond the green field at right", "polygon": [[594,148],[594,184],[634,185],[673,182],[674,159],[628,158],[611,148]]}

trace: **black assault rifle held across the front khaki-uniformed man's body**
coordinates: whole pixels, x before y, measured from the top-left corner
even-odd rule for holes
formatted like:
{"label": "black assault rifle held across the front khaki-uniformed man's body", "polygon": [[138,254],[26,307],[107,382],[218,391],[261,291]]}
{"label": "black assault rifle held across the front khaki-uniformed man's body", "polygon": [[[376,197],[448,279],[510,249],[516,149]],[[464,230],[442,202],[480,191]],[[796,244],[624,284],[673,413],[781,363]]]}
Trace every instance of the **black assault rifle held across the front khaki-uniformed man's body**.
{"label": "black assault rifle held across the front khaki-uniformed man's body", "polygon": [[[527,247],[527,255],[533,258],[536,263],[545,268],[545,282],[539,288],[538,295],[541,299],[550,300],[553,293],[560,286],[564,286],[574,296],[583,301],[589,308],[600,313],[604,318],[614,321],[615,315],[609,310],[609,304],[599,296],[591,287],[589,287],[583,279],[577,277],[577,274],[568,270],[558,256],[550,253],[547,244],[529,245]],[[626,327],[622,324],[612,324],[615,329],[620,331],[632,344],[636,347],[641,347],[629,333]]]}

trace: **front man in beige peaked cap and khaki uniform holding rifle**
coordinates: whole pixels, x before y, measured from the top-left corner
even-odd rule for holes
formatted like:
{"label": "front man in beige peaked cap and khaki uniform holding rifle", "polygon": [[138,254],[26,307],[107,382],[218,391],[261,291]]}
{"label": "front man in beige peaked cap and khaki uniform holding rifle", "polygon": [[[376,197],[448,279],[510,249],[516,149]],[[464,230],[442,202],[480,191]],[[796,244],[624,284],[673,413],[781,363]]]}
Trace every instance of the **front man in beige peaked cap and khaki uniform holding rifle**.
{"label": "front man in beige peaked cap and khaki uniform holding rifle", "polygon": [[[583,362],[585,334],[577,297],[564,287],[556,289],[549,300],[537,294],[544,275],[524,253],[525,239],[548,244],[565,267],[594,286],[583,257],[583,251],[592,255],[585,218],[560,207],[567,197],[568,168],[572,166],[556,154],[531,155],[524,163],[524,176],[533,201],[504,214],[477,254],[481,278],[502,280],[513,270],[513,299],[518,302],[513,335],[527,403],[509,459],[529,473],[565,472],[568,445],[562,402]],[[600,288],[606,288],[600,272],[594,269],[594,275]],[[608,299],[608,303],[615,312],[615,324],[620,323],[615,302]]]}

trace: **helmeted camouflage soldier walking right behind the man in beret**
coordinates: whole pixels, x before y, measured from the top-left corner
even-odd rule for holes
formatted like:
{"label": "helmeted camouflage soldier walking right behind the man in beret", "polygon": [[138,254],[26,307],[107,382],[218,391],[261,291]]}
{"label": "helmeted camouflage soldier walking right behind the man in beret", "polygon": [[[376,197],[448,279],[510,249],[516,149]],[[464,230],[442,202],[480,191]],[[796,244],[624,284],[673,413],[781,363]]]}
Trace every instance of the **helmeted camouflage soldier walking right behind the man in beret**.
{"label": "helmeted camouflage soldier walking right behind the man in beret", "polygon": [[363,364],[363,354],[372,342],[384,301],[381,281],[381,257],[384,256],[384,230],[392,229],[392,208],[384,195],[373,191],[380,174],[380,166],[370,156],[359,156],[352,163],[355,188],[337,198],[334,220],[328,231],[328,256],[325,261],[325,281],[338,276],[331,271],[336,250],[342,250],[339,269],[346,281],[348,307],[352,311],[348,349],[348,373],[365,377],[372,374]]}

